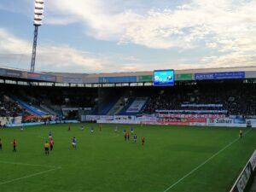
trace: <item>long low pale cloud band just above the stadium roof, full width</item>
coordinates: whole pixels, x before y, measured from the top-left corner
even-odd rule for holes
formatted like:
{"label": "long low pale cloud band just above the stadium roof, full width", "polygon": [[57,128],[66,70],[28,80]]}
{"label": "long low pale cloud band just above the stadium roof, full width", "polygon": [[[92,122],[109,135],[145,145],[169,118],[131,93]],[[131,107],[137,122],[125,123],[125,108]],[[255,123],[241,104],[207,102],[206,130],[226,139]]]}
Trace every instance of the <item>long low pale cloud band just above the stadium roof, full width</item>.
{"label": "long low pale cloud band just above the stadium roof, full width", "polygon": [[[32,44],[3,28],[0,28],[0,52],[0,65],[27,69],[30,67]],[[255,53],[234,52],[205,56],[198,62],[182,58],[155,63],[142,61],[135,56],[98,55],[63,44],[42,44],[38,46],[36,69],[52,72],[111,73],[149,71],[156,66],[159,69],[255,66],[255,61]]]}

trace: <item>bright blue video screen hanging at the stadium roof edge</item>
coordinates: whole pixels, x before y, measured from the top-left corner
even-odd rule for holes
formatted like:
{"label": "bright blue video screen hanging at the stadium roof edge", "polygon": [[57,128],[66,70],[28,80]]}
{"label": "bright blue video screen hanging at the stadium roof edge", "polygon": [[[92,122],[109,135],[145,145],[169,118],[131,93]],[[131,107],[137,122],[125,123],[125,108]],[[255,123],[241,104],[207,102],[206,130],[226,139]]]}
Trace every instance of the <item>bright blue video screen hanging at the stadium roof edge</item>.
{"label": "bright blue video screen hanging at the stadium roof edge", "polygon": [[157,70],[154,71],[154,86],[173,86],[174,85],[174,71]]}

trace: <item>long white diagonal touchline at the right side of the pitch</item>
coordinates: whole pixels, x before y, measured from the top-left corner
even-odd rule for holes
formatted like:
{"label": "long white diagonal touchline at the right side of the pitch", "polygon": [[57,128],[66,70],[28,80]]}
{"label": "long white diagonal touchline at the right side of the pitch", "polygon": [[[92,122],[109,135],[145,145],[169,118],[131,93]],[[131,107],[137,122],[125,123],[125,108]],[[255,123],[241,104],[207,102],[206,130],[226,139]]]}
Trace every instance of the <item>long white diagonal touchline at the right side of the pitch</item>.
{"label": "long white diagonal touchline at the right side of the pitch", "polygon": [[[250,130],[246,131],[244,135],[247,134],[247,132],[252,131],[253,128],[251,128]],[[187,173],[186,175],[184,175],[183,177],[181,177],[180,179],[177,180],[177,182],[173,183],[170,187],[168,187],[166,190],[164,190],[164,192],[172,189],[174,186],[177,185],[177,183],[180,183],[183,181],[184,178],[189,177],[189,175],[191,175],[193,172],[195,172],[196,170],[198,170],[199,168],[201,168],[201,166],[204,166],[205,164],[207,164],[208,161],[212,160],[215,156],[217,156],[218,154],[220,154],[221,152],[223,152],[226,148],[229,148],[230,145],[232,145],[233,143],[236,143],[238,140],[240,140],[240,138],[236,138],[233,142],[227,144],[224,148],[220,149],[216,154],[213,154],[211,157],[209,157],[207,160],[205,160],[204,162],[201,163],[201,165],[196,166],[195,169],[193,169],[191,172]]]}

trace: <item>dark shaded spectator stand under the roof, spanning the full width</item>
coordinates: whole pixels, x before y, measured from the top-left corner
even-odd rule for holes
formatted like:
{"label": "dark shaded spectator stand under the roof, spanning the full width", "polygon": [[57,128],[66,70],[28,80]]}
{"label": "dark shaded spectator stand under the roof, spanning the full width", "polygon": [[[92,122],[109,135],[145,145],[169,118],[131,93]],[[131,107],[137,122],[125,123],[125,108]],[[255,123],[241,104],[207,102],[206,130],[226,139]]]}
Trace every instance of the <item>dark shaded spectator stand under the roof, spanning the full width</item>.
{"label": "dark shaded spectator stand under the roof, spanning the full width", "polygon": [[[225,113],[226,115],[255,115],[256,90],[254,84],[242,82],[207,82],[181,84],[174,87],[114,88],[108,90],[79,88],[22,87],[4,92],[16,102],[4,100],[1,113],[22,113],[22,108],[33,115],[63,115],[66,108],[91,108],[87,114],[155,113],[156,110],[183,110],[184,113]],[[129,93],[127,95],[127,92]],[[2,101],[3,101],[2,94]],[[19,106],[19,107],[18,107]],[[20,108],[20,106],[22,108]],[[18,109],[13,109],[18,108]],[[16,110],[16,111],[14,111]],[[188,111],[188,112],[186,112]],[[66,113],[66,112],[65,112]],[[73,110],[68,116],[73,117]],[[66,113],[66,116],[67,116]],[[77,116],[76,114],[75,116]]]}

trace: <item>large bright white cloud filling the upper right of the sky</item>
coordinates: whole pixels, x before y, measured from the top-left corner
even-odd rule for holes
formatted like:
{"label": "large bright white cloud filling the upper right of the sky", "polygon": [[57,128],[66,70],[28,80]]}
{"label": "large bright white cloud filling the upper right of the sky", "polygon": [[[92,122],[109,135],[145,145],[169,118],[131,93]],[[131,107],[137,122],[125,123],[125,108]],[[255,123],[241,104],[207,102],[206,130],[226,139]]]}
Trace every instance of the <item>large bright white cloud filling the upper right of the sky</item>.
{"label": "large bright white cloud filling the upper right of the sky", "polygon": [[[166,9],[150,8],[137,2],[55,0],[49,2],[49,15],[76,18],[76,22],[86,26],[86,33],[97,39],[154,49],[190,49],[209,39],[218,44],[230,38],[247,38],[248,32],[255,36],[255,1],[192,0]],[[70,20],[46,22],[68,24]]]}

